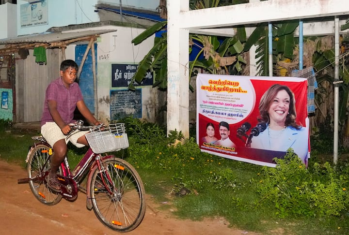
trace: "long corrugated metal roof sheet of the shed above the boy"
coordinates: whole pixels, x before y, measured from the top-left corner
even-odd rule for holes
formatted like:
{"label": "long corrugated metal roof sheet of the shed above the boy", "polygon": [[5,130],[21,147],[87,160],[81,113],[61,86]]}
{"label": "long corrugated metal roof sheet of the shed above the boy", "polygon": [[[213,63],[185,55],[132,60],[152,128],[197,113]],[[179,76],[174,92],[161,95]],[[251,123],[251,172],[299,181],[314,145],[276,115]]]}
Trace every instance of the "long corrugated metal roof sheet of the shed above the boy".
{"label": "long corrugated metal roof sheet of the shed above the boy", "polygon": [[[115,29],[99,29],[86,30],[76,32],[43,32],[30,35],[23,35],[14,38],[0,39],[0,45],[3,44],[21,44],[21,43],[54,43],[59,41],[66,41],[75,38],[98,35],[108,32],[113,32]],[[1,48],[1,47],[0,47]]]}

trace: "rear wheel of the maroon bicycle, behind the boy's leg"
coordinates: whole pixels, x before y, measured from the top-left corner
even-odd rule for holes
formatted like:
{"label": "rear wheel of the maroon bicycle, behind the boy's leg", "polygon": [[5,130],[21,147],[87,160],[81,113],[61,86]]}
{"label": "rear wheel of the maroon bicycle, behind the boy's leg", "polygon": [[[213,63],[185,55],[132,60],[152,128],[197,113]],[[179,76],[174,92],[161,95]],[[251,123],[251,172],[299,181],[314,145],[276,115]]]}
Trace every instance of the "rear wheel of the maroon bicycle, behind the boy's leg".
{"label": "rear wheel of the maroon bicycle, behind the boy's leg", "polygon": [[[35,198],[39,202],[53,206],[59,203],[62,199],[62,195],[58,192],[51,191],[45,183],[45,176],[50,170],[50,155],[49,147],[44,144],[37,144],[36,147],[31,148],[32,151],[28,158],[28,177],[29,186],[34,194]],[[46,160],[48,164],[44,166]],[[62,168],[60,166],[59,173],[62,174]]]}

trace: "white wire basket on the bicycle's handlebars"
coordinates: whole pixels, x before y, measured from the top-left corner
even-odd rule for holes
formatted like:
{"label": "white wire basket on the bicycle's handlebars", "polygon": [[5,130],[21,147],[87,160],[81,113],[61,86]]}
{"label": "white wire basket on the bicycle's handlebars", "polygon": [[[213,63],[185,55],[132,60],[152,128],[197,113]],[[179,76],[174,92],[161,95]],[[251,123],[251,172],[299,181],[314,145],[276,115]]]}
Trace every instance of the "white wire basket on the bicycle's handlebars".
{"label": "white wire basket on the bicycle's handlebars", "polygon": [[117,151],[128,147],[124,123],[96,127],[85,136],[94,153]]}

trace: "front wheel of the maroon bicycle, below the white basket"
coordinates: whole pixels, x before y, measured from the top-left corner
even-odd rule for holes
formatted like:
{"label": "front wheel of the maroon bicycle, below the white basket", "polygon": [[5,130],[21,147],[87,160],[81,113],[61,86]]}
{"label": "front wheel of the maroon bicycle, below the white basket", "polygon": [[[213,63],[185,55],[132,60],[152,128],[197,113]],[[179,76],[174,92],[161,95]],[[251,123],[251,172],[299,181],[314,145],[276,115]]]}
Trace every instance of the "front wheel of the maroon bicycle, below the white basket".
{"label": "front wheel of the maroon bicycle, below the white basket", "polygon": [[141,177],[131,164],[119,158],[105,159],[102,165],[105,171],[100,173],[95,167],[91,172],[90,191],[95,215],[112,230],[129,232],[142,222],[145,213]]}

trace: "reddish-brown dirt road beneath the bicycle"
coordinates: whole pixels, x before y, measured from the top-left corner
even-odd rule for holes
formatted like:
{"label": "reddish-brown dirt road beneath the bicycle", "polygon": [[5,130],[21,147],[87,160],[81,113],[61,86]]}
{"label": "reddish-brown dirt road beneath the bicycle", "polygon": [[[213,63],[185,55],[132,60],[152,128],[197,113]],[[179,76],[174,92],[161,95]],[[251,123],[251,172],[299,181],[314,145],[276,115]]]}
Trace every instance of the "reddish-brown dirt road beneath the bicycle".
{"label": "reddish-brown dirt road beneath the bicycle", "polygon": [[[37,201],[28,184],[17,184],[26,171],[15,164],[0,161],[0,231],[13,235],[112,235],[120,234],[105,227],[86,209],[86,195],[79,192],[75,202],[64,199],[55,206]],[[228,228],[223,219],[203,221],[179,220],[170,212],[158,209],[147,198],[141,225],[127,235],[256,235],[253,232]]]}

